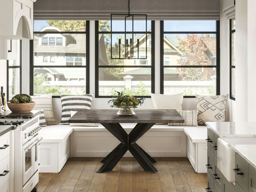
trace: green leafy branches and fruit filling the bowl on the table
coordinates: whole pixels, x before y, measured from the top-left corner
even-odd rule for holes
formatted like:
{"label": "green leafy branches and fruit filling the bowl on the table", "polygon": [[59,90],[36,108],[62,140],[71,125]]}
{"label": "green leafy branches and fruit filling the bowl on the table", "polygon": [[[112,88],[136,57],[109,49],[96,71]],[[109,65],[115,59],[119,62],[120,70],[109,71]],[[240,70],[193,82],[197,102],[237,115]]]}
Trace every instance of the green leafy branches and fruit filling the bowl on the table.
{"label": "green leafy branches and fruit filling the bowl on the table", "polygon": [[141,105],[144,102],[144,98],[136,98],[130,95],[124,95],[124,92],[117,92],[117,96],[111,98],[108,101],[110,107],[123,108],[125,111],[128,111],[130,107],[137,108],[138,105]]}

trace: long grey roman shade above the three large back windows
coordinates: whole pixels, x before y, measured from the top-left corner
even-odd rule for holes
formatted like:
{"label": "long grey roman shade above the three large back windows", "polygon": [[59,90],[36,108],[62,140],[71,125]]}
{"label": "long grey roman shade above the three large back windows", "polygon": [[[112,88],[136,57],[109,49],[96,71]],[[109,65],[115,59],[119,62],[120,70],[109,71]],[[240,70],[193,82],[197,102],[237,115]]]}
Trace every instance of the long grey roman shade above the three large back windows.
{"label": "long grey roman shade above the three large back windows", "polygon": [[[220,0],[131,0],[131,13],[148,20],[220,20]],[[127,0],[37,0],[34,20],[110,20],[127,13]]]}

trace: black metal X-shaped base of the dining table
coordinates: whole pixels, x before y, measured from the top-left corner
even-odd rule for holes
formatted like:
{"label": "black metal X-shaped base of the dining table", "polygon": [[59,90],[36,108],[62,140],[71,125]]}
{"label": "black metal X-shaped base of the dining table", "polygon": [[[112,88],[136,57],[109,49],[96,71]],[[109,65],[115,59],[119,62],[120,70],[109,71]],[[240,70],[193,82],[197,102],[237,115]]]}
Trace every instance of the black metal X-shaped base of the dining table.
{"label": "black metal X-shaped base of the dining table", "polygon": [[121,143],[101,161],[101,163],[104,164],[97,173],[112,171],[127,150],[131,152],[145,171],[153,173],[158,172],[152,164],[156,163],[156,161],[135,143],[154,125],[154,123],[138,123],[129,134],[127,134],[118,123],[102,123],[102,125],[121,141]]}

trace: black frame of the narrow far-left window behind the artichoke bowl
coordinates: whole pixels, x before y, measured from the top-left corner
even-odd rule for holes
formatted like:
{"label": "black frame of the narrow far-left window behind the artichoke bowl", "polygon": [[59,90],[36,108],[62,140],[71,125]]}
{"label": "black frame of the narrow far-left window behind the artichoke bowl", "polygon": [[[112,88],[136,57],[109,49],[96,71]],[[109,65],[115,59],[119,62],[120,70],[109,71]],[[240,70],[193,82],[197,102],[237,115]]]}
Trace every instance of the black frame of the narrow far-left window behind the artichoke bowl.
{"label": "black frame of the narrow far-left window behind the artichoke bowl", "polygon": [[17,66],[9,66],[9,60],[6,60],[6,65],[7,65],[7,72],[6,72],[6,76],[7,76],[7,81],[6,81],[6,85],[7,85],[7,89],[6,89],[6,101],[9,101],[9,69],[14,69],[14,68],[20,68],[20,94],[22,92],[22,40],[20,40],[20,65]]}

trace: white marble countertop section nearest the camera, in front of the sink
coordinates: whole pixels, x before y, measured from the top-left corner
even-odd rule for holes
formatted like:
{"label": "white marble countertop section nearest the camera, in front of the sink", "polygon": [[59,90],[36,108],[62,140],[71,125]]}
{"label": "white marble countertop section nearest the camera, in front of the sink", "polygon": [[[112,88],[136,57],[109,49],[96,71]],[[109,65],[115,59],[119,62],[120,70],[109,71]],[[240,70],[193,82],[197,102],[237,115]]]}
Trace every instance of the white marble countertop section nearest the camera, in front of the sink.
{"label": "white marble countertop section nearest the camera, in front of the sink", "polygon": [[256,145],[232,145],[234,150],[256,169]]}

